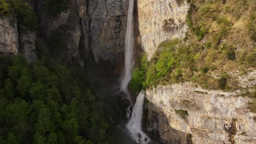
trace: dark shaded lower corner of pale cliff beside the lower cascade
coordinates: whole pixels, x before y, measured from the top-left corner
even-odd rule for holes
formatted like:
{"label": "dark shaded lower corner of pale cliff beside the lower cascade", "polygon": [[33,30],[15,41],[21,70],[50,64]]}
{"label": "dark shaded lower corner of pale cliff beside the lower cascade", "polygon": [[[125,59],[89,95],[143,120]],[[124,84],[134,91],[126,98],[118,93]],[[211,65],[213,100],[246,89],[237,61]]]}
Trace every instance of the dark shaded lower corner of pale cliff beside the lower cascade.
{"label": "dark shaded lower corner of pale cliff beside the lower cascade", "polygon": [[193,144],[192,135],[173,129],[161,108],[149,103],[144,104],[143,130],[159,144]]}

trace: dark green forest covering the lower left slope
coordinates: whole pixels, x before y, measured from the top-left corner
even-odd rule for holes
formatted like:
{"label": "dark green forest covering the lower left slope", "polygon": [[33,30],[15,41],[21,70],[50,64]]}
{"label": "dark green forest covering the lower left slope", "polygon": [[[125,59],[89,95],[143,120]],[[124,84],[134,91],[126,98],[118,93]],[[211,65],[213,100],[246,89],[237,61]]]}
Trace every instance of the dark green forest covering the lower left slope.
{"label": "dark green forest covering the lower left slope", "polygon": [[65,65],[0,58],[0,143],[107,143],[102,104]]}

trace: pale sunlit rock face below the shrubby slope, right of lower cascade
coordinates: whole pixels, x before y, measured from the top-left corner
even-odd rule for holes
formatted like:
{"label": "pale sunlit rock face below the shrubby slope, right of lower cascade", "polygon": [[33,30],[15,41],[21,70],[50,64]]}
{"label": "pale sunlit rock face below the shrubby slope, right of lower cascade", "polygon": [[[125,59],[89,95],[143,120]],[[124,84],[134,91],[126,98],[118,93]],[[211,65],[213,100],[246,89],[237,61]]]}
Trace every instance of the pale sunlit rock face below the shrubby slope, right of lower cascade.
{"label": "pale sunlit rock face below the shrubby slope, right of lower cascade", "polygon": [[[173,129],[194,143],[255,143],[256,114],[247,109],[251,99],[236,94],[207,91],[190,82],[148,89],[146,129],[158,131],[162,143],[178,142],[181,135]],[[178,143],[189,142],[183,138]]]}

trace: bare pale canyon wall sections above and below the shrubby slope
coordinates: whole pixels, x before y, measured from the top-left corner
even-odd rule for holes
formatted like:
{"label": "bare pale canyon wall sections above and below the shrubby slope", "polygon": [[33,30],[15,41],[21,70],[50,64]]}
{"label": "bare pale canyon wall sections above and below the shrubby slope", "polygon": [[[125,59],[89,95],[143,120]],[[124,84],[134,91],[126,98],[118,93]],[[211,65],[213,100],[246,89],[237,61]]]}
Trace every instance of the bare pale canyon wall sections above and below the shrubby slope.
{"label": "bare pale canyon wall sections above and below the shrubby slope", "polygon": [[[140,43],[148,60],[163,41],[185,37],[187,1],[137,3]],[[254,92],[255,71],[234,75],[240,87]],[[256,115],[248,108],[253,98],[241,95],[238,90],[206,90],[191,82],[147,89],[144,130],[159,143],[255,143]]]}

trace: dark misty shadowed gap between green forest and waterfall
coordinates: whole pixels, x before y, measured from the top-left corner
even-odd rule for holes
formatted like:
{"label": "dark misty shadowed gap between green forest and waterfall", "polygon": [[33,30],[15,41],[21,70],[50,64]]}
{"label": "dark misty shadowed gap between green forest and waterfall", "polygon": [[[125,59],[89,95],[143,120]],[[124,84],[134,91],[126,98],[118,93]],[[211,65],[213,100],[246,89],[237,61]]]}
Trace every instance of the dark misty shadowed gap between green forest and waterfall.
{"label": "dark misty shadowed gap between green forest and waterfall", "polygon": [[97,64],[89,61],[85,67],[90,87],[95,92],[97,99],[104,103],[105,118],[109,124],[106,133],[109,135],[110,143],[133,143],[125,128],[128,121],[126,109],[129,107],[130,101],[125,98],[123,92],[120,92],[120,75],[113,74],[113,65],[108,62]]}

